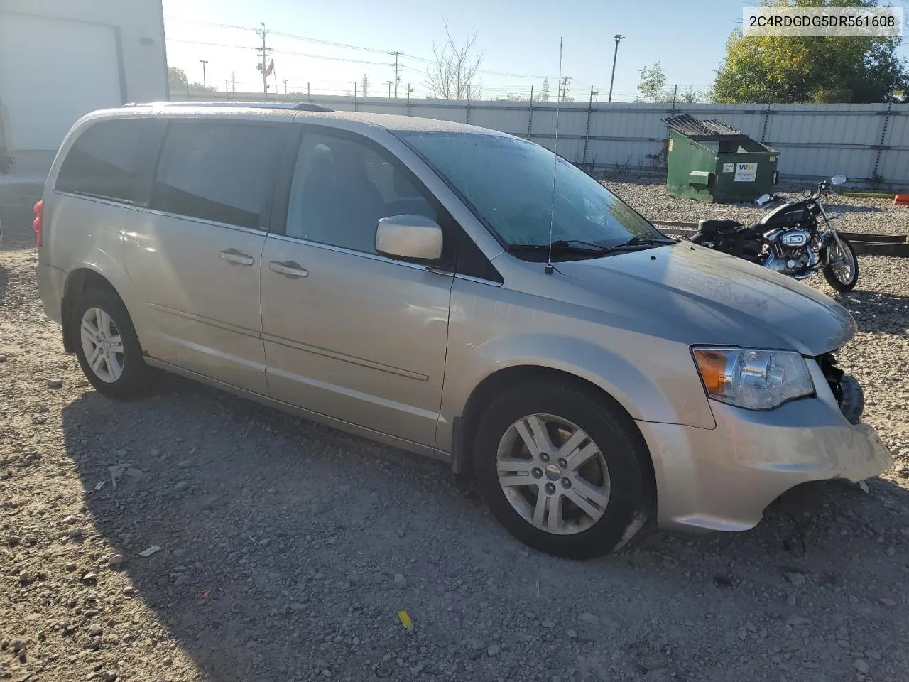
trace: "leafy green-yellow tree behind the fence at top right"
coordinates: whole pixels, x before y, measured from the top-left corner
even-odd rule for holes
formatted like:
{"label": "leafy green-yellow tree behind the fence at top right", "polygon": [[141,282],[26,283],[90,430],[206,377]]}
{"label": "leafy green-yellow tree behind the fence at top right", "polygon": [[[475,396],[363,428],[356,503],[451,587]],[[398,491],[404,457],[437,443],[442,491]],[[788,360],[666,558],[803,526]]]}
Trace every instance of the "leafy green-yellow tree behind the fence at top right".
{"label": "leafy green-yellow tree behind the fence at top right", "polygon": [[[765,6],[874,6],[876,0],[763,0]],[[898,101],[909,81],[898,38],[748,36],[736,30],[716,71],[714,100],[729,104]]]}

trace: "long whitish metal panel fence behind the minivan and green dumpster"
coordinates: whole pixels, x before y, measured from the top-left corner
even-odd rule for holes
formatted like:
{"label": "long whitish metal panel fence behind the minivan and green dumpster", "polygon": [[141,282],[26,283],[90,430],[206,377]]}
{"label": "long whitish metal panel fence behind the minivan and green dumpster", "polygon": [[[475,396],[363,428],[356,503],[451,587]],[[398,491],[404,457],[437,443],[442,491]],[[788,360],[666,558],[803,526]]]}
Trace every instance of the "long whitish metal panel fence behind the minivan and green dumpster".
{"label": "long whitish metal panel fence behind the minivan and green dumpster", "polygon": [[[172,99],[187,96],[172,93]],[[218,99],[193,93],[192,99]],[[225,95],[220,95],[221,97]],[[271,95],[275,98],[275,95]],[[262,95],[231,94],[261,101]],[[439,118],[519,135],[552,149],[552,102],[447,101],[278,95],[338,111]],[[588,169],[661,165],[668,115],[687,113],[732,125],[780,152],[780,175],[812,180],[843,173],[850,184],[909,186],[909,105],[649,105],[566,103],[559,112],[559,154]]]}

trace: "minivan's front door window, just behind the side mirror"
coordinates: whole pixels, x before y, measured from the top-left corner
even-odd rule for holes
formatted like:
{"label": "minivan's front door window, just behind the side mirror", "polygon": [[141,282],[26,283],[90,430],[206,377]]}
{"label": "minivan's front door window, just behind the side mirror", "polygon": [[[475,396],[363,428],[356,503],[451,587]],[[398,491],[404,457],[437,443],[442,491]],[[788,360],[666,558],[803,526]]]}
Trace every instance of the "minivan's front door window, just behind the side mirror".
{"label": "minivan's front door window, just behind the side mirror", "polygon": [[375,253],[379,218],[435,208],[405,169],[350,139],[307,133],[287,206],[288,236]]}

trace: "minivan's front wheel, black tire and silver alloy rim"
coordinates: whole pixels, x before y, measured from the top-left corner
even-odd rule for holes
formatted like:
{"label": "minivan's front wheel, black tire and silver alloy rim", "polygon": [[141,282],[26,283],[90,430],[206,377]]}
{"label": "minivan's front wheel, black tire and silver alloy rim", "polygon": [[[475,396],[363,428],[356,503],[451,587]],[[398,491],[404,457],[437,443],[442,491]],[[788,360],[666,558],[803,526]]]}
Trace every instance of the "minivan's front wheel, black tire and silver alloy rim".
{"label": "minivan's front wheel, black tire and silver alloy rim", "polygon": [[644,510],[634,426],[592,393],[555,382],[498,396],[477,429],[474,471],[502,525],[559,557],[605,554]]}

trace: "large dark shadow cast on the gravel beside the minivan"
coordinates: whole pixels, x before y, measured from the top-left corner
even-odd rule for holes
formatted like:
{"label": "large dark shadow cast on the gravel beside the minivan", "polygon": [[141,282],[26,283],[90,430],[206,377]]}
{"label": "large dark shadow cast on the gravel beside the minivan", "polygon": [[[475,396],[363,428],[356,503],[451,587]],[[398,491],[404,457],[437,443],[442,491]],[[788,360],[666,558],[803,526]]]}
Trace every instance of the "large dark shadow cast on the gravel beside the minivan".
{"label": "large dark shadow cast on the gravel beside the minivan", "polygon": [[[570,562],[506,536],[454,491],[443,464],[181,379],[130,404],[87,392],[63,420],[96,532],[127,557],[119,570],[135,586],[97,608],[144,600],[220,682],[323,670],[486,679],[470,672],[485,666],[489,679],[638,679],[654,660],[679,679],[751,679],[747,657],[807,646],[790,646],[787,619],[825,627],[830,609],[864,619],[877,587],[905,579],[905,546],[892,559],[884,550],[909,503],[883,481],[873,495],[814,486],[807,504],[784,499],[747,533],[656,532],[616,556]],[[97,540],[82,545],[88,553]],[[161,549],[138,556],[152,546]],[[104,557],[99,593],[109,594],[110,570]],[[875,622],[901,647],[909,632],[890,614]],[[861,651],[864,636],[851,637]],[[796,677],[854,678],[854,654],[835,638],[812,639],[824,651],[804,654],[824,661],[821,677]]]}

